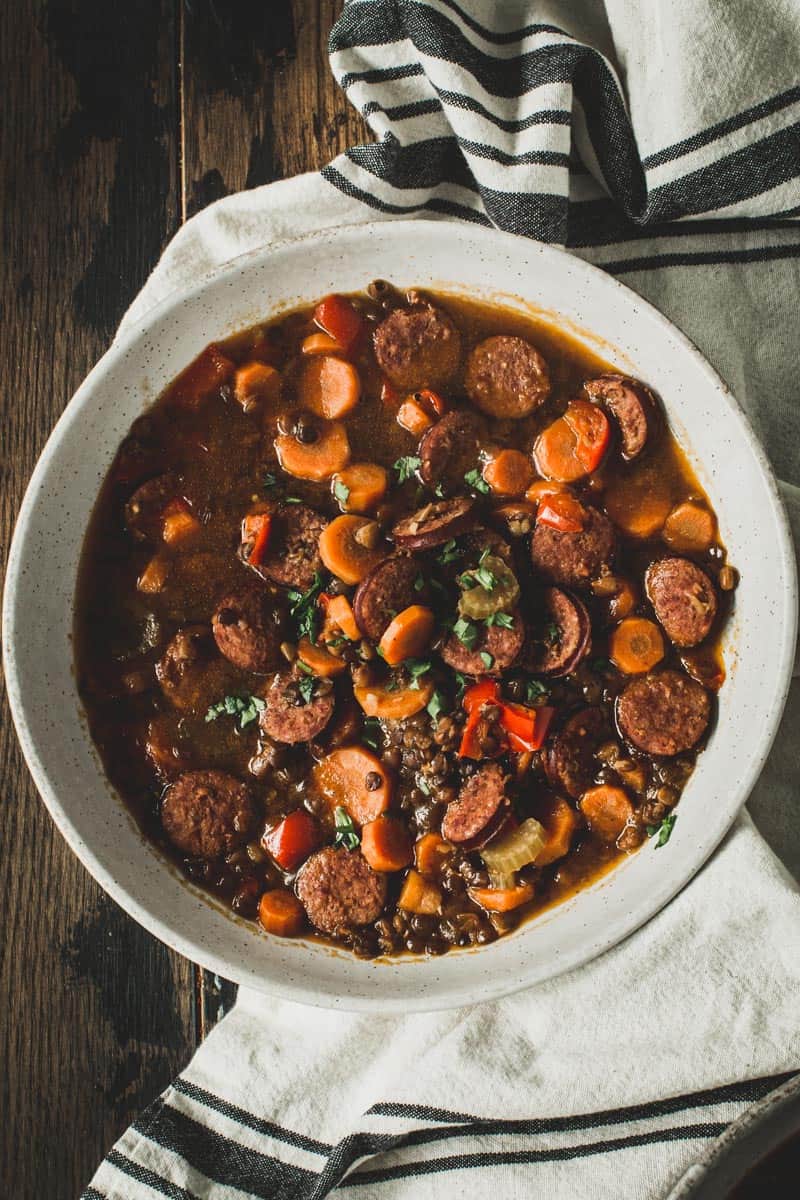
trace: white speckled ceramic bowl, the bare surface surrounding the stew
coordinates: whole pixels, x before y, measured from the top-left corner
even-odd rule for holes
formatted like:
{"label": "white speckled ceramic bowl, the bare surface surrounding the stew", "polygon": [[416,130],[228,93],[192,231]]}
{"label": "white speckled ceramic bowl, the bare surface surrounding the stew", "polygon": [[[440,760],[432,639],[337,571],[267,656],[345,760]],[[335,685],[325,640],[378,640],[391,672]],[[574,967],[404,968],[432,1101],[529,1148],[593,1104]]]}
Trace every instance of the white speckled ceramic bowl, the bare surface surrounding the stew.
{"label": "white speckled ceramic bowl, the bare surface surrounding the stew", "polygon": [[[89,516],[136,416],[212,338],[371,278],[551,313],[662,396],[741,571],[724,635],[720,719],[680,802],[669,846],[473,953],[365,962],[281,941],[187,884],[143,841],[107,782],[73,676],[76,571]],[[515,299],[517,298],[517,299]],[[591,330],[591,335],[583,332]],[[5,667],[19,739],[59,829],[127,912],[229,979],[321,1006],[383,1012],[488,1000],[587,962],[648,920],[723,836],[764,763],[794,652],[794,556],[775,480],[727,388],[693,346],[621,283],[558,250],[444,222],[331,230],[242,257],[156,308],[79,388],[36,467],[11,550]]]}

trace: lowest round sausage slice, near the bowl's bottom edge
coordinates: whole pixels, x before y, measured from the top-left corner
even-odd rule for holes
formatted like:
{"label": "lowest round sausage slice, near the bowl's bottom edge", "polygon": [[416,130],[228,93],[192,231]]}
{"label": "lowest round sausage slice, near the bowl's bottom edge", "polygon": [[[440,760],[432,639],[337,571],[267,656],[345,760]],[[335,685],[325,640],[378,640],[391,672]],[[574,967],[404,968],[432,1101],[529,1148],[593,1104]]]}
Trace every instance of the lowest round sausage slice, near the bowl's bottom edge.
{"label": "lowest round sausage slice, near the bowl's bottom edge", "polygon": [[373,871],[360,850],[325,846],[301,868],[296,890],[312,925],[336,934],[380,917],[386,876]]}

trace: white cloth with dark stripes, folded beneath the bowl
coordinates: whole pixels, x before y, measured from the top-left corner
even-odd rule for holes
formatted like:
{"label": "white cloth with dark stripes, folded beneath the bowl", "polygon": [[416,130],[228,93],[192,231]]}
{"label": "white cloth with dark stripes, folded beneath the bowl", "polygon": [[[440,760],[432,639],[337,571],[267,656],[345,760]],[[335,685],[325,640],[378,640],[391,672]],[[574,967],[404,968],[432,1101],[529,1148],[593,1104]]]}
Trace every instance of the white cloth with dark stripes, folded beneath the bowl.
{"label": "white cloth with dark stripes, folded beneath the bowl", "polygon": [[[646,295],[800,481],[799,49],[781,0],[355,0],[331,64],[379,140],[194,217],[124,326],[275,239],[497,224]],[[799,727],[793,695],[751,803],[795,875]],[[241,990],[84,1196],[655,1200],[800,1067],[799,989],[798,886],[745,814],[645,928],[521,995],[398,1019]]]}

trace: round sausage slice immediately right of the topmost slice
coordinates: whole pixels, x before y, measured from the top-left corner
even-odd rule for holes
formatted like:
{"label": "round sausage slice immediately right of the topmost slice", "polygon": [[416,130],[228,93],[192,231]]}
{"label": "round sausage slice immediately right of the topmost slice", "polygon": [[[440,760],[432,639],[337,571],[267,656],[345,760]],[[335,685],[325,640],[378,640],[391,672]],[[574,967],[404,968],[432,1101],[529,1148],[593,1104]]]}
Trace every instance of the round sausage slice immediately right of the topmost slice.
{"label": "round sausage slice immediately right of the topmost slice", "polygon": [[489,416],[528,416],[549,396],[551,373],[523,337],[487,337],[467,360],[464,389]]}

